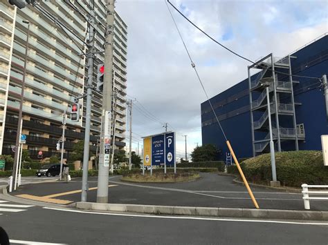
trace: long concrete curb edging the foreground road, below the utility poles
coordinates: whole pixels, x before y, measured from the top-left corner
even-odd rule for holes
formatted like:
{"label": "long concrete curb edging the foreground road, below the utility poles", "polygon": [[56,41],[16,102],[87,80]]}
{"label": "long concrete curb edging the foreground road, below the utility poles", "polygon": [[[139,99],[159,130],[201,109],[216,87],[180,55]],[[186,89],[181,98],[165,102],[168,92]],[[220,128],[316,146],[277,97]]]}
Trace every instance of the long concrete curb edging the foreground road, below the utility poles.
{"label": "long concrete curb edging the foreground road, below the utility poles", "polygon": [[252,208],[206,208],[188,206],[154,206],[137,204],[100,204],[77,202],[75,207],[84,210],[147,213],[153,215],[192,215],[207,217],[238,217],[255,219],[300,219],[328,221],[328,211],[300,211]]}

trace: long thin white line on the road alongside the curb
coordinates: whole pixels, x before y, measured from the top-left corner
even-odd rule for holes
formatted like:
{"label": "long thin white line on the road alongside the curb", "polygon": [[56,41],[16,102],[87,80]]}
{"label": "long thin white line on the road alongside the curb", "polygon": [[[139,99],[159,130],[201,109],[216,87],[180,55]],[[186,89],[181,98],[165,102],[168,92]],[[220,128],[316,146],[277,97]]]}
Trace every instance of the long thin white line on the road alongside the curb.
{"label": "long thin white line on the road alongside the curb", "polygon": [[314,225],[314,226],[328,226],[327,222],[285,222],[278,220],[263,220],[263,219],[222,219],[222,218],[206,218],[206,217],[181,217],[181,216],[159,216],[159,215],[130,215],[123,213],[99,213],[99,212],[89,212],[82,210],[72,210],[72,209],[63,209],[63,208],[48,208],[44,209],[65,211],[71,213],[86,213],[93,215],[111,215],[111,216],[126,216],[126,217],[146,217],[154,219],[194,219],[194,220],[208,220],[208,221],[222,221],[222,222],[253,222],[253,223],[273,223],[273,224],[299,224],[299,225]]}

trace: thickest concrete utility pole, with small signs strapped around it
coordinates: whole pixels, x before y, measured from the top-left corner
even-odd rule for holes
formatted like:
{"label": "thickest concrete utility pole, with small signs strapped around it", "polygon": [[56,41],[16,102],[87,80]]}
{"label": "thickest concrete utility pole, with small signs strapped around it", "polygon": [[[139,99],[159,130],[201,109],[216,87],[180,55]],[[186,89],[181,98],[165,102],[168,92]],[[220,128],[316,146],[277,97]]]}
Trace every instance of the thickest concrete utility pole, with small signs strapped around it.
{"label": "thickest concrete utility pole, with small signs strapped around it", "polygon": [[[98,190],[97,202],[108,202],[108,175],[109,162],[105,159],[105,133],[108,133],[109,112],[111,112],[111,81],[113,70],[113,31],[114,31],[114,3],[115,0],[106,0],[106,33],[104,43],[104,89],[102,92],[102,128],[100,137],[100,157],[99,157],[99,172],[98,172]],[[107,127],[107,128],[106,128]],[[107,155],[107,154],[106,154]]]}

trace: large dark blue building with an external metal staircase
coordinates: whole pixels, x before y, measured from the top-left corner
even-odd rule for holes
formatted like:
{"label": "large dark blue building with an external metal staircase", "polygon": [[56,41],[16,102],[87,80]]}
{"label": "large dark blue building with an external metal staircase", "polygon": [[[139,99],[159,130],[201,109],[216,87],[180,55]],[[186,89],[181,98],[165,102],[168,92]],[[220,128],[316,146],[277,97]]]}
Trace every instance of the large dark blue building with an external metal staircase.
{"label": "large dark blue building with an external metal staircase", "polygon": [[[212,97],[237,157],[268,153],[270,128],[276,151],[321,150],[320,136],[328,134],[327,73],[326,34],[282,59],[264,57],[248,66],[247,79]],[[226,140],[208,101],[201,104],[201,132],[203,144],[215,144],[225,159]]]}

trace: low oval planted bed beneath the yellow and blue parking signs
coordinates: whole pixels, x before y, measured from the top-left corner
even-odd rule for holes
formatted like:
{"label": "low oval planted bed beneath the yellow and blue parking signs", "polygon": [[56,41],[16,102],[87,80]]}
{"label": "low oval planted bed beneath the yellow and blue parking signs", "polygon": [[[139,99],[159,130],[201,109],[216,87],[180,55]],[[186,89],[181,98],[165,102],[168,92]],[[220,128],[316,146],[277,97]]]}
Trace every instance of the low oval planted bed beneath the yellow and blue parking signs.
{"label": "low oval planted bed beneath the yellow and blue parking signs", "polygon": [[142,174],[128,174],[124,175],[121,180],[127,182],[138,183],[174,183],[174,182],[189,182],[194,179],[199,179],[199,173],[149,173]]}

